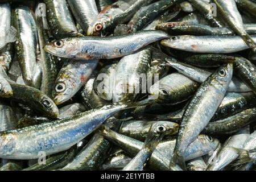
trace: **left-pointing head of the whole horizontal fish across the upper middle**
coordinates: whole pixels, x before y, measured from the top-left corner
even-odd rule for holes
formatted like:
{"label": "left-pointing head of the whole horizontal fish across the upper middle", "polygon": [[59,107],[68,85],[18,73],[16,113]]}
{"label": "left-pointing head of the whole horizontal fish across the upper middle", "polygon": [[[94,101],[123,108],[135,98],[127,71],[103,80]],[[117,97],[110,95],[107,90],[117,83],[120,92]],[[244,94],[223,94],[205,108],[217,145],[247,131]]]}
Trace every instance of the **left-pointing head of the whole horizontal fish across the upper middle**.
{"label": "left-pointing head of the whole horizontal fish across the upper middle", "polygon": [[76,38],[55,40],[44,46],[46,52],[52,55],[66,58],[75,58],[78,42]]}

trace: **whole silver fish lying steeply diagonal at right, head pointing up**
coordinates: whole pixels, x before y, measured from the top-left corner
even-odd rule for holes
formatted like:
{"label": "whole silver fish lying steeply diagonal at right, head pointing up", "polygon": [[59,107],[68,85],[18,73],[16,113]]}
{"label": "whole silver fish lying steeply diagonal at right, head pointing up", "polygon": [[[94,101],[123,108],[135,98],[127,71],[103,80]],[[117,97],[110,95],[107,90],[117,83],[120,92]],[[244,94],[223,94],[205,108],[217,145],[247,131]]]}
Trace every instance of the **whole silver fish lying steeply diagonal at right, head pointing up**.
{"label": "whole silver fish lying steeply diagonal at right, head pointing up", "polygon": [[[205,80],[191,101],[189,101],[181,119],[170,167],[177,164],[181,169],[186,169],[184,160],[185,149],[196,139],[204,127],[207,126],[218,109],[218,106],[220,106],[232,79],[232,75],[232,64],[226,64],[220,67]],[[209,99],[209,96],[212,99]]]}

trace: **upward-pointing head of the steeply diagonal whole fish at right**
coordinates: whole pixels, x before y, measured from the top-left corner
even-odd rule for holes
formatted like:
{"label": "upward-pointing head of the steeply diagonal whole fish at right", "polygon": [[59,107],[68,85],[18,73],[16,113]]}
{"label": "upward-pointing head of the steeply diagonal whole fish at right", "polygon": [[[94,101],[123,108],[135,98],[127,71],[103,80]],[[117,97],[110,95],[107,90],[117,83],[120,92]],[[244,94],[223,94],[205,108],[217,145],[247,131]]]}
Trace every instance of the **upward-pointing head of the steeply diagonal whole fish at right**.
{"label": "upward-pointing head of the steeply diagonal whole fish at right", "polygon": [[213,75],[216,78],[216,81],[221,85],[229,85],[229,83],[233,76],[233,64],[228,63],[222,65]]}

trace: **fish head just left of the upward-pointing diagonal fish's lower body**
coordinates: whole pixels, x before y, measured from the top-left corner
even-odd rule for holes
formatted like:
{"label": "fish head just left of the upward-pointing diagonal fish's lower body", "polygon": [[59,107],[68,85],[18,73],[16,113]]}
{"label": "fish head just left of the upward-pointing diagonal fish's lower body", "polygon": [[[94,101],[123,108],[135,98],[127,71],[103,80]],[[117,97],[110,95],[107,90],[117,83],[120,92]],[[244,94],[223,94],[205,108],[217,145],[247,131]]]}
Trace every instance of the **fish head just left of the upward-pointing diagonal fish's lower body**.
{"label": "fish head just left of the upward-pointing diagonal fish's lower body", "polygon": [[179,129],[179,125],[169,121],[158,121],[154,125],[154,133],[163,133],[164,135],[175,135]]}

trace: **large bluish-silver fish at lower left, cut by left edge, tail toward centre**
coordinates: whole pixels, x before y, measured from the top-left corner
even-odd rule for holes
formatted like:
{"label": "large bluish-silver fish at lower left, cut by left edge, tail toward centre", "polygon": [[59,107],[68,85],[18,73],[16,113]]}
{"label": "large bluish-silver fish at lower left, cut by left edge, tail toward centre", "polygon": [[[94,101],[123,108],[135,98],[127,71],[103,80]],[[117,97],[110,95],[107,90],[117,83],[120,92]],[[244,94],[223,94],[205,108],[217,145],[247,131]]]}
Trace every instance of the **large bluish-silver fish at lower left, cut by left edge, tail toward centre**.
{"label": "large bluish-silver fish at lower left, cut by left edge, tail toward centre", "polygon": [[[5,159],[37,159],[40,151],[46,152],[46,155],[51,155],[67,150],[96,130],[113,114],[136,106],[134,104],[105,105],[99,109],[85,111],[69,118],[3,131],[0,133],[0,157]],[[48,136],[47,140],[46,136]],[[12,143],[7,138],[11,138]]]}

